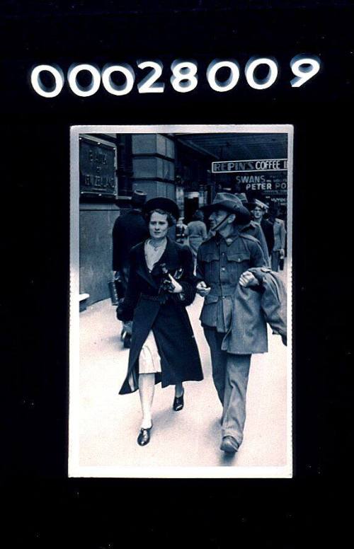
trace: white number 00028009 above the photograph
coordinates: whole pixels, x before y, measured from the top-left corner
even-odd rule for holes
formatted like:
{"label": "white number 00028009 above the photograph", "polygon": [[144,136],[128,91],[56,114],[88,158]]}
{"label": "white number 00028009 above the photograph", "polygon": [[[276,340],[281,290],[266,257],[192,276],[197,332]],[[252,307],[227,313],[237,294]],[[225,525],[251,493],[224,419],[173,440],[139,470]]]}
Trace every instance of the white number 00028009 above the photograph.
{"label": "white number 00028009 above the photograph", "polygon": [[[161,80],[164,66],[158,59],[154,61],[137,61],[140,70],[150,69],[146,76],[137,82],[139,93],[163,93],[165,83]],[[263,67],[263,78],[256,75],[258,67]],[[296,55],[290,61],[290,68],[294,78],[290,81],[292,88],[299,88],[312,79],[320,70],[321,62],[315,55]],[[223,71],[224,79],[219,80],[218,73]],[[79,81],[79,74],[86,71],[89,74],[89,83],[83,86]],[[42,80],[42,74],[50,74],[52,84],[47,86]],[[244,67],[244,75],[248,85],[256,90],[264,90],[273,86],[278,79],[278,62],[274,57],[251,57]],[[118,77],[120,83],[113,81],[112,75]],[[207,67],[206,77],[210,88],[217,92],[232,90],[239,82],[240,66],[236,59],[213,59]],[[101,84],[113,96],[125,96],[135,86],[135,71],[130,64],[106,64],[100,70],[94,64],[72,64],[67,72],[67,83],[76,96],[93,96]],[[186,93],[198,86],[198,63],[194,59],[176,59],[171,64],[171,78],[173,89],[179,93]],[[36,93],[45,98],[59,96],[64,87],[64,72],[57,65],[42,64],[33,67],[30,72],[30,83]]]}

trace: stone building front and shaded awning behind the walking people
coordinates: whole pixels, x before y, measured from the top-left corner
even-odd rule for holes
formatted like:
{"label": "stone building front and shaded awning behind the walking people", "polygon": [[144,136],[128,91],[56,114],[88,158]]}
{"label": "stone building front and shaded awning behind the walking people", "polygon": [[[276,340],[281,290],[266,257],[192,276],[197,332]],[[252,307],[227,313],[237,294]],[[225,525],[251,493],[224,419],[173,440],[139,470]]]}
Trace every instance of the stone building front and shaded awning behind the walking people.
{"label": "stone building front and shaded awning behind the walking people", "polygon": [[[277,203],[286,220],[287,170],[244,162],[286,158],[282,134],[81,134],[79,141],[80,293],[89,294],[86,305],[110,295],[112,229],[136,189],[148,200],[175,200],[185,223],[221,190]],[[225,169],[215,171],[215,164]]]}

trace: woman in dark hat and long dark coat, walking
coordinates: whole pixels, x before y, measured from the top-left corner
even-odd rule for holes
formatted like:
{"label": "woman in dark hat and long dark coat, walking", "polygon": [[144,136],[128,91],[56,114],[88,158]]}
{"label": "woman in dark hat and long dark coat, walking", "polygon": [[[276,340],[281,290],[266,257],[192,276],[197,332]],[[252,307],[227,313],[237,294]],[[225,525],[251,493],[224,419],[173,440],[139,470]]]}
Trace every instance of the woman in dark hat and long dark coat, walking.
{"label": "woman in dark hat and long dark coat, walking", "polygon": [[183,408],[183,381],[202,380],[193,329],[185,307],[195,298],[193,257],[188,246],[166,237],[178,207],[168,198],[144,206],[150,238],[132,248],[127,293],[117,316],[133,320],[127,376],[120,394],[139,389],[142,427],[137,442],[148,444],[154,385],[175,385],[173,410]]}

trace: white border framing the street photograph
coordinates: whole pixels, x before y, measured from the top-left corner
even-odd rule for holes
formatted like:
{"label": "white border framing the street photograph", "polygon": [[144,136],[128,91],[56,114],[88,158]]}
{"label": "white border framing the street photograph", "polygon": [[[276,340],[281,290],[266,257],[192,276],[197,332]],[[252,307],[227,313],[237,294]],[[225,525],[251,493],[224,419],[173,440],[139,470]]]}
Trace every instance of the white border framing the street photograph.
{"label": "white border framing the street photograph", "polygon": [[[79,136],[81,134],[287,134],[287,452],[286,466],[122,467],[79,465]],[[292,478],[292,174],[294,126],[76,125],[70,127],[69,458],[71,478]]]}

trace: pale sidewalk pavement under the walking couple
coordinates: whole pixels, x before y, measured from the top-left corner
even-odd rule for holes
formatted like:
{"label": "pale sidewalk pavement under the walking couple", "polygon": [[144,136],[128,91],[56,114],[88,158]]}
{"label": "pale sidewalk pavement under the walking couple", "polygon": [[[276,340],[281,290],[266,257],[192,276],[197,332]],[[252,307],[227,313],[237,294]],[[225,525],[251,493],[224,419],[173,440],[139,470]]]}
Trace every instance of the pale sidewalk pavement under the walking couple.
{"label": "pale sidewalk pavement under the walking couple", "polygon": [[[285,272],[284,272],[285,275]],[[219,450],[222,407],[211,376],[209,347],[200,321],[202,298],[188,307],[204,381],[185,386],[185,407],[173,412],[173,387],[156,386],[154,427],[147,446],[137,444],[139,393],[118,395],[129,349],[109,300],[80,313],[79,464],[84,466],[285,466],[287,450],[286,347],[268,333],[269,352],[252,357],[244,442],[232,458]],[[107,475],[109,476],[109,475]]]}

